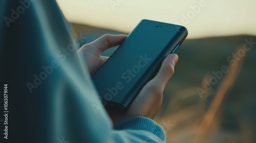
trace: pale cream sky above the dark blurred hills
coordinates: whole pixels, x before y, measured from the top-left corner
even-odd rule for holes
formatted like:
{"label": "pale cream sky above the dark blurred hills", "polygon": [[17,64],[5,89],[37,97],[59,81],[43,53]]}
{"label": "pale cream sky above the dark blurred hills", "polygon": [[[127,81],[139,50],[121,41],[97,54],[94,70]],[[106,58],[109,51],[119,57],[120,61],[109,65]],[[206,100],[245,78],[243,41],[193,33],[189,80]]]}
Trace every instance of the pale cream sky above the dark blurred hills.
{"label": "pale cream sky above the dark blurred hills", "polygon": [[141,19],[182,25],[187,38],[256,35],[255,0],[57,0],[70,22],[131,32]]}

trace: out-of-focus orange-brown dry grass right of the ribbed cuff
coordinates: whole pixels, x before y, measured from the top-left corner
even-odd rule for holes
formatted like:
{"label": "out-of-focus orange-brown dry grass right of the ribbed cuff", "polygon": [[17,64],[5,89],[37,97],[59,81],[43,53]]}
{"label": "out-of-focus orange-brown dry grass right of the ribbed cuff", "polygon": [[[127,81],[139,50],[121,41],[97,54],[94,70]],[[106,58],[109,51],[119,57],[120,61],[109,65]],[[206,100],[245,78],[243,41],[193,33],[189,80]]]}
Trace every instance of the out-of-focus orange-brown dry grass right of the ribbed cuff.
{"label": "out-of-focus orange-brown dry grass right of the ribbed cuff", "polygon": [[[237,48],[237,51],[242,48],[242,45]],[[220,114],[223,99],[228,96],[233,88],[234,83],[241,71],[244,64],[246,55],[237,61],[233,66],[228,65],[229,71],[221,79],[217,90],[209,90],[204,93],[202,98],[197,93],[196,88],[202,87],[198,85],[189,87],[169,99],[167,108],[162,116],[156,117],[156,122],[163,126],[167,136],[167,142],[233,142],[234,140],[241,140],[245,136],[243,142],[252,142],[252,129],[250,125],[243,123],[241,126],[242,134],[230,133],[222,131],[220,128]],[[210,74],[204,76],[204,79],[209,80]],[[206,99],[209,95],[213,95],[213,100],[210,103],[208,110],[205,110]],[[197,105],[187,106],[186,108],[179,109],[177,112],[173,111],[174,106],[178,101],[185,100],[189,97],[199,98]],[[173,124],[172,128],[165,127],[164,123]],[[223,137],[225,136],[225,137]],[[234,141],[235,142],[235,141]]]}

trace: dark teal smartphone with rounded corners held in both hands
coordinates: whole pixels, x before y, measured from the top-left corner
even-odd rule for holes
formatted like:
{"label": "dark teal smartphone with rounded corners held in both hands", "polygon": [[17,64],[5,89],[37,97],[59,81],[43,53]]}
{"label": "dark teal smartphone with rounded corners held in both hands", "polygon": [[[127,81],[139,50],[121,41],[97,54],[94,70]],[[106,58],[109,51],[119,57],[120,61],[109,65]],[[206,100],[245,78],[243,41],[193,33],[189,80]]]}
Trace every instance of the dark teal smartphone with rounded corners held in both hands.
{"label": "dark teal smartphone with rounded corners held in both hands", "polygon": [[105,107],[127,110],[186,36],[185,27],[141,20],[92,78]]}

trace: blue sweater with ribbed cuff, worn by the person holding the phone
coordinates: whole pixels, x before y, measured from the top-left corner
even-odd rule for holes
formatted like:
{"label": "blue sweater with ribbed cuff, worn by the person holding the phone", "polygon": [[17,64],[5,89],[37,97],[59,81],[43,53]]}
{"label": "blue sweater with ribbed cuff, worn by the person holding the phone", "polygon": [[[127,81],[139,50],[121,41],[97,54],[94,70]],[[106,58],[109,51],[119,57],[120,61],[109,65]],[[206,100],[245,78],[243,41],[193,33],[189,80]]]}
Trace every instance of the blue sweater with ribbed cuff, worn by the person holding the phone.
{"label": "blue sweater with ribbed cuff, worn by the person holding the phone", "polygon": [[0,142],[165,142],[150,118],[113,128],[56,1],[0,1],[0,7],[0,81],[8,84],[10,111],[8,140]]}

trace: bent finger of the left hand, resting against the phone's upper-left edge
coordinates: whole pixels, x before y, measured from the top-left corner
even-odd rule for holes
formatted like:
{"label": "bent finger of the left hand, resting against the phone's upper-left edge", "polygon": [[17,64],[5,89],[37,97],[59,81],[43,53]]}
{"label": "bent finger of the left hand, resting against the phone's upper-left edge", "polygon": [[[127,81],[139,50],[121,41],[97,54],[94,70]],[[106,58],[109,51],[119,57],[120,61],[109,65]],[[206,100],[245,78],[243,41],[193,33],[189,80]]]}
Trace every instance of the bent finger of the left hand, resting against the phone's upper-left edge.
{"label": "bent finger of the left hand, resting against the phone's upper-left edge", "polygon": [[105,34],[93,42],[83,45],[83,49],[89,50],[91,53],[99,56],[103,51],[120,45],[127,35],[111,35]]}

